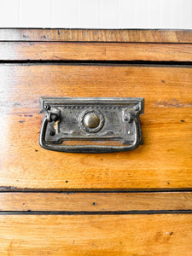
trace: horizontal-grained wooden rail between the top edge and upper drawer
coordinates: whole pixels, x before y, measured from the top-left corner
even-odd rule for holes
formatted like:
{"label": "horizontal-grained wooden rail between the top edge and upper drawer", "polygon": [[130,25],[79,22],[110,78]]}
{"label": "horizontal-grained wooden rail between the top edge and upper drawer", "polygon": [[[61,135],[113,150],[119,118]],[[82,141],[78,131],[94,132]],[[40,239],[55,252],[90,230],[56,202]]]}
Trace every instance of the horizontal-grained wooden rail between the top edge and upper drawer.
{"label": "horizontal-grained wooden rail between the top edge and upper drawer", "polygon": [[7,61],[192,61],[192,44],[0,42]]}

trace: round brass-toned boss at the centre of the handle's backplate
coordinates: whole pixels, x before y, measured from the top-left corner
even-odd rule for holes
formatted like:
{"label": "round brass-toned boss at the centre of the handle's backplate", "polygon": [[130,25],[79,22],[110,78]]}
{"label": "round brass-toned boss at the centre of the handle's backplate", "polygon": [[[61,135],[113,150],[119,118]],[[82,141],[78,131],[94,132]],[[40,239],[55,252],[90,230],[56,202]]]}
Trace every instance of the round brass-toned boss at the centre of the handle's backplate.
{"label": "round brass-toned boss at the centre of the handle's backplate", "polygon": [[104,125],[104,117],[97,109],[86,110],[80,117],[80,124],[84,131],[96,132],[102,129]]}

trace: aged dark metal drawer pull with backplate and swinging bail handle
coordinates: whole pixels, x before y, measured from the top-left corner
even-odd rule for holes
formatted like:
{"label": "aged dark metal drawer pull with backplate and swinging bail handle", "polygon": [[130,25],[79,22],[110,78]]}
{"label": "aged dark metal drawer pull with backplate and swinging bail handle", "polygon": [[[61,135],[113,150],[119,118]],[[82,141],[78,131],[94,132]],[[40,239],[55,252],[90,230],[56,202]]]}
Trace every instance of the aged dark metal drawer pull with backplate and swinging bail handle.
{"label": "aged dark metal drawer pull with backplate and swinging bail handle", "polygon": [[42,148],[76,153],[129,151],[143,144],[143,98],[41,97]]}

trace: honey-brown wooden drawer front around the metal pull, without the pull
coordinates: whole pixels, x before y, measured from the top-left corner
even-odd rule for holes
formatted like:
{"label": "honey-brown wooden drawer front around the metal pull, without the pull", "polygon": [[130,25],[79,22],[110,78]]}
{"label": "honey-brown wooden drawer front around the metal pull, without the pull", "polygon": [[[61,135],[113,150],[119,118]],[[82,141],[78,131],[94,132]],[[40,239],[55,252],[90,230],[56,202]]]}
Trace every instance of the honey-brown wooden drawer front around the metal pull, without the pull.
{"label": "honey-brown wooden drawer front around the metal pull, without the pull", "polygon": [[[192,69],[178,66],[0,66],[1,189],[186,189],[192,185]],[[145,98],[143,146],[65,154],[38,145],[40,96]]]}

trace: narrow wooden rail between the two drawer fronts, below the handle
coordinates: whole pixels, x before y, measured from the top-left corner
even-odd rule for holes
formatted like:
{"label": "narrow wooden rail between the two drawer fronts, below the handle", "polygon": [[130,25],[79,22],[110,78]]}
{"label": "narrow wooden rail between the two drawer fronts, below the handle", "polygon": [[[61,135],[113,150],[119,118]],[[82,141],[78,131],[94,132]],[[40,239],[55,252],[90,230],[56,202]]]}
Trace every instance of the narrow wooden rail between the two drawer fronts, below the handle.
{"label": "narrow wooden rail between the two drawer fronts, below the handle", "polygon": [[0,193],[0,212],[192,211],[192,192]]}

